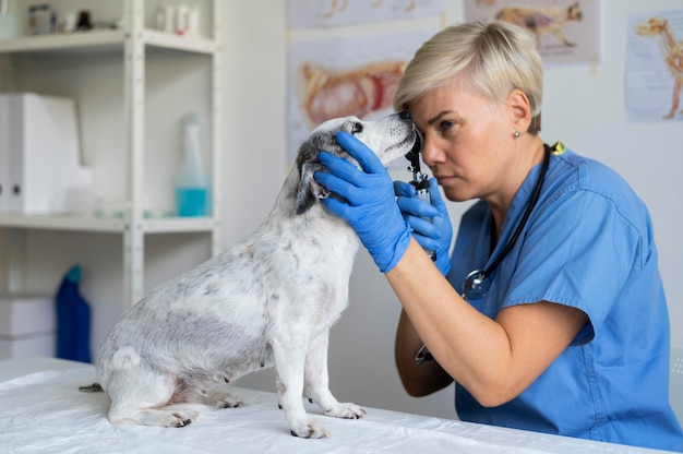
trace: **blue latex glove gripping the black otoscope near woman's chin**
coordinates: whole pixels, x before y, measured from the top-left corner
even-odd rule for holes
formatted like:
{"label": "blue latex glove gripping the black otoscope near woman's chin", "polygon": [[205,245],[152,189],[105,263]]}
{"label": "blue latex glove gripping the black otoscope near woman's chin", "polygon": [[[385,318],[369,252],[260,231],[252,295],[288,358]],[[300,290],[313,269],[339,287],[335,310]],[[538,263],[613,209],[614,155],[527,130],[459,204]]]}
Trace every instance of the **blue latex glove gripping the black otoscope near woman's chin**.
{"label": "blue latex glove gripping the black otoscope near woman's chin", "polygon": [[416,196],[416,189],[410,183],[394,181],[394,191],[404,219],[412,227],[412,236],[422,249],[436,252],[434,264],[445,276],[451,270],[448,252],[453,227],[436,179],[429,180],[431,205]]}

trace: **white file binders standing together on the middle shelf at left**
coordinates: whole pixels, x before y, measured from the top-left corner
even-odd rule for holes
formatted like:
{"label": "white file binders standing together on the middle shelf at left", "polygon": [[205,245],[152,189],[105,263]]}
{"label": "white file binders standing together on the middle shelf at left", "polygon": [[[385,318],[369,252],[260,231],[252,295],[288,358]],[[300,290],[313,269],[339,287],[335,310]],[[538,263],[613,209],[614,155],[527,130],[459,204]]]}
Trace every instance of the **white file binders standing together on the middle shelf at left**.
{"label": "white file binders standing together on the middle shelf at left", "polygon": [[7,132],[0,134],[0,178],[7,180],[0,212],[67,213],[74,192],[92,192],[92,171],[81,165],[73,99],[0,94],[0,131]]}

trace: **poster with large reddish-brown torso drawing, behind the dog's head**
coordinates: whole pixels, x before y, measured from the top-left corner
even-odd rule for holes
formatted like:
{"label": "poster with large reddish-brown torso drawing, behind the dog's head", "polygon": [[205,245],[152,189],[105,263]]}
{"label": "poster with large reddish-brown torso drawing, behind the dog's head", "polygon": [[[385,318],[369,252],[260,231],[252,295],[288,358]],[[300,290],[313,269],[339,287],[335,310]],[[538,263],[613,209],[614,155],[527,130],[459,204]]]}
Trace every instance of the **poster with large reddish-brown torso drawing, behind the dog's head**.
{"label": "poster with large reddish-brown torso drawing, behind the dog's head", "polygon": [[311,130],[335,117],[374,120],[394,111],[398,81],[436,29],[289,43],[287,160]]}

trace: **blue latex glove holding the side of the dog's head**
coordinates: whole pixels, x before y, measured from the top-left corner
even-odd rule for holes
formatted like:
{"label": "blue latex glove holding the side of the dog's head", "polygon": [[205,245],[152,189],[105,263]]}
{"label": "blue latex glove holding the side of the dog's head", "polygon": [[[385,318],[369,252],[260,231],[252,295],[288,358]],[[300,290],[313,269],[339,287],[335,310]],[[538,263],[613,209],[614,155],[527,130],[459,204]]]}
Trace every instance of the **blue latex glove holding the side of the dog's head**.
{"label": "blue latex glove holding the side of the dog's head", "polygon": [[322,203],[356,230],[380,271],[386,273],[408,249],[412,229],[398,210],[394,183],[380,159],[352,135],[338,132],[336,138],[362,170],[344,158],[320,153],[319,160],[328,172],[315,172],[313,178],[343,199],[327,198]]}

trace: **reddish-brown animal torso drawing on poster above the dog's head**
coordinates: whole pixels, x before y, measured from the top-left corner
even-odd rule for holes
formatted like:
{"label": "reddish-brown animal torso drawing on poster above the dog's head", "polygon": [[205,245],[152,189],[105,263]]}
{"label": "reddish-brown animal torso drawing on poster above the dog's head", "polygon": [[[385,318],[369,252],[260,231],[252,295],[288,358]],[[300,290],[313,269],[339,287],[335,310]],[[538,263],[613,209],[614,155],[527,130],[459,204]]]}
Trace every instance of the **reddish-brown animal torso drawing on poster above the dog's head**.
{"label": "reddish-brown animal torso drawing on poster above the dog's head", "polygon": [[338,117],[366,118],[391,108],[405,69],[404,60],[378,61],[350,69],[303,63],[299,72],[302,85],[299,93],[309,126]]}

